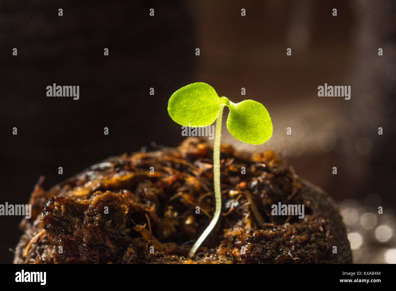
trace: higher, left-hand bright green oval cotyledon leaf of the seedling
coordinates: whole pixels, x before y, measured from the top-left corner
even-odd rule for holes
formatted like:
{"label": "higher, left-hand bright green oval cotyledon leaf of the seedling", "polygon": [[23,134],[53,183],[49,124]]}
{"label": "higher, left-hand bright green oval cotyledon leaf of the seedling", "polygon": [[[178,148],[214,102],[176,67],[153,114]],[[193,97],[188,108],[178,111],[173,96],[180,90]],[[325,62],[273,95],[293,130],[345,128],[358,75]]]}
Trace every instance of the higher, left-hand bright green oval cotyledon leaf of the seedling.
{"label": "higher, left-hand bright green oval cotyledon leaf of the seedling", "polygon": [[219,110],[219,95],[213,87],[202,82],[180,88],[168,102],[169,116],[182,126],[208,126],[216,120]]}

